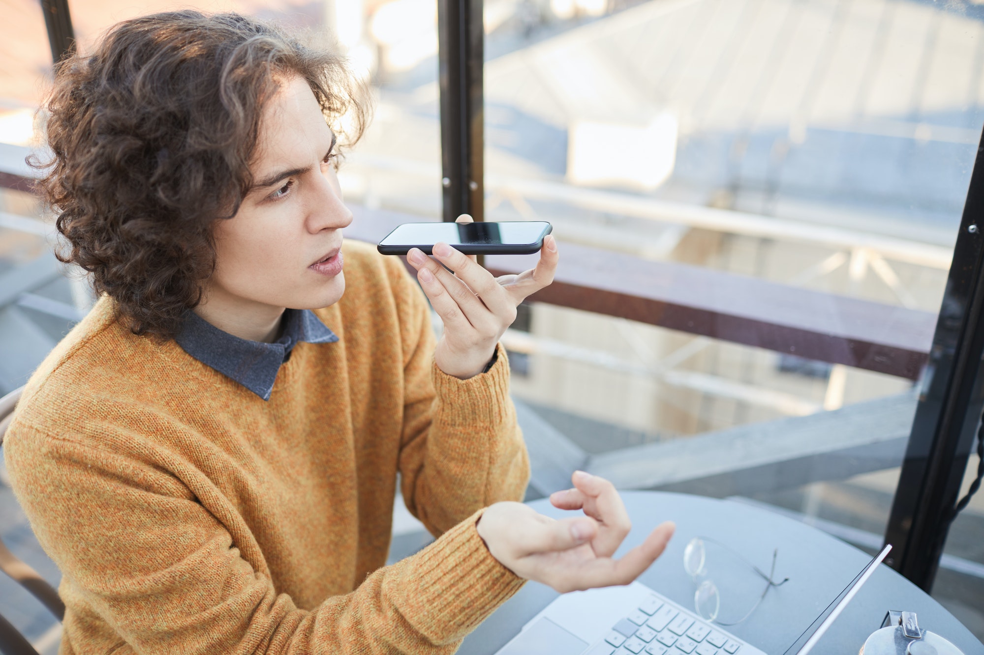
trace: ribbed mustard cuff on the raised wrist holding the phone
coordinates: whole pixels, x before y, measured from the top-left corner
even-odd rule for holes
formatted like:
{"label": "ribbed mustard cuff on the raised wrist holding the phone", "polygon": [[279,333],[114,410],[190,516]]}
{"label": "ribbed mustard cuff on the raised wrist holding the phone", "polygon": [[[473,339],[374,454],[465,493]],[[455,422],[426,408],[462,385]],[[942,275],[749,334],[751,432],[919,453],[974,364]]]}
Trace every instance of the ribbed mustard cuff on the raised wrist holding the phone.
{"label": "ribbed mustard cuff on the raised wrist holding the phone", "polygon": [[433,364],[431,379],[441,401],[441,418],[449,425],[498,425],[512,420],[509,357],[501,343],[496,345],[496,362],[487,373],[459,380]]}

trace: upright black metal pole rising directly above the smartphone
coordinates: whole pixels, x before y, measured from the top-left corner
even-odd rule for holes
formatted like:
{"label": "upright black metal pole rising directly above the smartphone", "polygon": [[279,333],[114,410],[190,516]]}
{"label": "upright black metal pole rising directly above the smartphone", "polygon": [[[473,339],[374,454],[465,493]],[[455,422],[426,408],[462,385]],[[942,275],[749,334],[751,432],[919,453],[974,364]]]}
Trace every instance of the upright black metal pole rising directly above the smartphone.
{"label": "upright black metal pole rising directly above the smartphone", "polygon": [[482,0],[438,0],[445,221],[485,211]]}

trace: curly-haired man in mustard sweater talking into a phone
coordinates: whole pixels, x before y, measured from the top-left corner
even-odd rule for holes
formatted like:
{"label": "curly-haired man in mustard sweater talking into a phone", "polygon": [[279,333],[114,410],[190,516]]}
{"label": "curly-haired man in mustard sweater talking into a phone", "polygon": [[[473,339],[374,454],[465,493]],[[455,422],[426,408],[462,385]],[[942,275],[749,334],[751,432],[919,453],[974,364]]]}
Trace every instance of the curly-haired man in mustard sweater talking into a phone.
{"label": "curly-haired man in mustard sweater talking into a phone", "polygon": [[[195,12],[58,70],[40,188],[102,296],[5,450],[63,573],[63,653],[450,653],[523,579],[626,584],[670,537],[612,560],[625,509],[584,473],[553,499],[582,517],[516,503],[498,339],[557,246],[500,280],[447,244],[411,252],[435,344],[400,261],[342,244],[347,80],[267,24]],[[398,473],[439,537],[383,566]]]}

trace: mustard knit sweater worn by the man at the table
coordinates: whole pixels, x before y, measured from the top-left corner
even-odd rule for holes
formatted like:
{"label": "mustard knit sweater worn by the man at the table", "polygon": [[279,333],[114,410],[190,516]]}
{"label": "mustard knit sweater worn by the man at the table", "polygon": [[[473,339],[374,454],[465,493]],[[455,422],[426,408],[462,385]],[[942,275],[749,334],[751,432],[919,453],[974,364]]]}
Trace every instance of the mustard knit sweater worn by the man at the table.
{"label": "mustard knit sweater worn by the man at the table", "polygon": [[[4,447],[62,571],[62,653],[452,653],[519,589],[475,529],[520,500],[525,448],[503,353],[461,381],[396,258],[346,242],[269,402],[112,318],[111,301],[31,378]],[[397,473],[435,543],[394,566]]]}

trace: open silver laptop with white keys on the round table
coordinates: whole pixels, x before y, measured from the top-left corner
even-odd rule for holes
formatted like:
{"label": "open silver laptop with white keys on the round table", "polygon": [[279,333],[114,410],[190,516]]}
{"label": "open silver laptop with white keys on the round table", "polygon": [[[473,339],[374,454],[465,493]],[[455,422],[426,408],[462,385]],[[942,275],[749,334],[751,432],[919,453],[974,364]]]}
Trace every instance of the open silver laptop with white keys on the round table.
{"label": "open silver laptop with white keys on the round table", "polygon": [[[784,655],[806,655],[885,556],[886,546],[833,599]],[[496,655],[766,655],[645,584],[564,594]]]}

